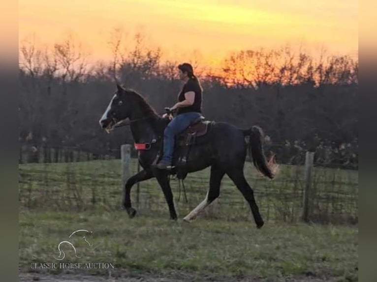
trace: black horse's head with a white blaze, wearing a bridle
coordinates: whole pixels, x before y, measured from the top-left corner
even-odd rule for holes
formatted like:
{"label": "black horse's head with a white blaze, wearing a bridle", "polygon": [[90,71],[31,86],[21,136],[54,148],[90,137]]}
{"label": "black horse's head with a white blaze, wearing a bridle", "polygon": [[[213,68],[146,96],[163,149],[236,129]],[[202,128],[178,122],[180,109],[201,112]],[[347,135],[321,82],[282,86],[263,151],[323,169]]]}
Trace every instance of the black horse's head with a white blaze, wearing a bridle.
{"label": "black horse's head with a white blaze, wearing a bridle", "polygon": [[129,117],[131,103],[127,101],[127,90],[117,84],[117,90],[106,111],[102,114],[99,124],[103,130],[110,133],[114,126]]}

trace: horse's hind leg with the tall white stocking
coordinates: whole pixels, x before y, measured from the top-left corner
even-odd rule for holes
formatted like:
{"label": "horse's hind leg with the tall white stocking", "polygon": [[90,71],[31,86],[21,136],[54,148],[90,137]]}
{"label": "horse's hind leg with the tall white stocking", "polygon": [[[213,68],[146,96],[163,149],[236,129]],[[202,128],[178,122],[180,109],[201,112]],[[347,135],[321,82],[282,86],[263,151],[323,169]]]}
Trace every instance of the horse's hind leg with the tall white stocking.
{"label": "horse's hind leg with the tall white stocking", "polygon": [[217,197],[219,197],[220,183],[224,174],[225,173],[218,167],[211,167],[210,189],[208,190],[204,200],[196,208],[194,208],[187,216],[184,217],[184,221],[190,222],[191,220],[195,219],[198,213],[200,213],[206,206],[208,206]]}

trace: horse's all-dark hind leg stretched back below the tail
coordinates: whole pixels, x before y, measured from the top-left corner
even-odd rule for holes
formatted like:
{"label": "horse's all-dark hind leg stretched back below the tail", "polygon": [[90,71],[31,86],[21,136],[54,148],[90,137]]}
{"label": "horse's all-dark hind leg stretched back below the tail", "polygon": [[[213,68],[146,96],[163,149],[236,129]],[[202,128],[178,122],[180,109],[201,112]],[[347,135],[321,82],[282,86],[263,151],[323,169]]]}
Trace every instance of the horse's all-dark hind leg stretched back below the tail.
{"label": "horse's all-dark hind leg stretched back below the tail", "polygon": [[252,216],[254,217],[254,221],[257,228],[260,228],[264,225],[262,217],[259,214],[259,208],[255,202],[254,192],[252,191],[251,187],[249,186],[248,182],[245,179],[244,171],[242,168],[239,169],[231,169],[226,172],[229,175],[230,179],[236,184],[238,190],[241,191],[242,195],[245,199],[249,202]]}

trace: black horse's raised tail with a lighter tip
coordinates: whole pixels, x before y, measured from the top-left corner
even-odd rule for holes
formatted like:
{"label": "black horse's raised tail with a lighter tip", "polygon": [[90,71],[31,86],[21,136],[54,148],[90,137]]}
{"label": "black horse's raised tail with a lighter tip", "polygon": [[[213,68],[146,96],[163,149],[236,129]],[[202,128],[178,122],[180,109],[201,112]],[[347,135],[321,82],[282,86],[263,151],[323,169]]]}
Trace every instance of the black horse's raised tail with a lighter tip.
{"label": "black horse's raised tail with a lighter tip", "polygon": [[269,161],[267,161],[264,156],[263,130],[259,126],[254,125],[250,129],[244,130],[244,135],[250,136],[249,155],[255,168],[263,175],[273,179],[277,166],[274,164],[274,156],[271,156]]}

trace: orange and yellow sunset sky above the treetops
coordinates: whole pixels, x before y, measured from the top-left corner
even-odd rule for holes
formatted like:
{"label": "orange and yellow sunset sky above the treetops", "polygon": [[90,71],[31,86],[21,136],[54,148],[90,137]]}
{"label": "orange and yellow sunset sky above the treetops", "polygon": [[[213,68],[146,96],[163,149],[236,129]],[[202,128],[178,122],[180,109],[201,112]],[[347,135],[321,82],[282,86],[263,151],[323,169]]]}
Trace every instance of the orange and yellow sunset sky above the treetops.
{"label": "orange and yellow sunset sky above the treetops", "polygon": [[[141,31],[163,57],[208,64],[231,51],[303,45],[357,56],[357,0],[19,0],[19,40],[42,46],[73,33],[91,60],[111,58],[114,28]],[[127,39],[127,37],[126,37]]]}

